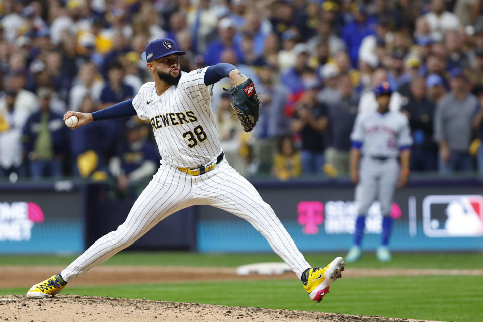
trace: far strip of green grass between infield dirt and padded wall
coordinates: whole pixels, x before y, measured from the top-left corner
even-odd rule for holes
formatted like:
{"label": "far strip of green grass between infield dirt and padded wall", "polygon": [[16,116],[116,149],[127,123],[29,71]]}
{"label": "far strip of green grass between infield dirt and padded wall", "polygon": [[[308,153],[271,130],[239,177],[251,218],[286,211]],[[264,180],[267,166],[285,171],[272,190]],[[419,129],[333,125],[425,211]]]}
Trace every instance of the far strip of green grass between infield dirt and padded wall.
{"label": "far strip of green grass between infield dirt and padded wall", "polygon": [[[313,266],[326,265],[334,257],[345,254],[305,254]],[[76,255],[2,255],[0,265],[64,265]],[[273,254],[201,254],[182,252],[121,252],[102,265],[159,265],[159,266],[239,266],[257,262],[281,261]],[[381,263],[374,253],[364,254],[355,268],[467,268],[483,269],[483,253],[394,253],[393,260]]]}

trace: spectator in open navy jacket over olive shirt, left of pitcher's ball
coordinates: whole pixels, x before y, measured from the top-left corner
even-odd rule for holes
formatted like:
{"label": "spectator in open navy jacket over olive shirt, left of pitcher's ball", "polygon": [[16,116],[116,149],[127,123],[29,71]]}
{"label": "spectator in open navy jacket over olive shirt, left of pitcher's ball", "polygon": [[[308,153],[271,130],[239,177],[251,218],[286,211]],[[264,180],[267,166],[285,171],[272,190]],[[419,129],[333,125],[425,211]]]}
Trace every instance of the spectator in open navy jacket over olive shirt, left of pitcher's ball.
{"label": "spectator in open navy jacket over olive shirt, left of pitcher's ball", "polygon": [[69,132],[63,115],[50,110],[52,90],[37,91],[39,110],[27,119],[23,128],[23,151],[29,160],[32,178],[61,177]]}

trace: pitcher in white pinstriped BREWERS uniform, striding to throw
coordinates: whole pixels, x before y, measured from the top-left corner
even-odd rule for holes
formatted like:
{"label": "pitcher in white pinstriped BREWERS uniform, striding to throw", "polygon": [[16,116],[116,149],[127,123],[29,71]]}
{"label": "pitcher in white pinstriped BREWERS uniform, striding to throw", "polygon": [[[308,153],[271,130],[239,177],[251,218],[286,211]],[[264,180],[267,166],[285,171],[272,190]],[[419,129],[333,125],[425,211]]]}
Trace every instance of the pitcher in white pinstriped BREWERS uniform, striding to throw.
{"label": "pitcher in white pinstriped BREWERS uniform, striding to throw", "polygon": [[78,118],[73,129],[97,120],[137,115],[149,119],[162,162],[151,182],[117,230],[97,240],[57,275],[32,286],[27,297],[59,293],[67,283],[125,249],[159,221],[193,205],[224,209],[252,224],[302,281],[314,301],[328,293],[344,269],[342,257],[326,267],[312,268],[295,246],[272,208],[255,188],[228,164],[220,146],[211,112],[213,84],[231,79],[229,91],[241,126],[251,131],[258,120],[259,98],[250,78],[227,63],[189,73],[180,70],[177,44],[171,39],[149,43],[142,58],[153,82],[145,83],[134,99],[94,113],[68,111],[64,119]]}

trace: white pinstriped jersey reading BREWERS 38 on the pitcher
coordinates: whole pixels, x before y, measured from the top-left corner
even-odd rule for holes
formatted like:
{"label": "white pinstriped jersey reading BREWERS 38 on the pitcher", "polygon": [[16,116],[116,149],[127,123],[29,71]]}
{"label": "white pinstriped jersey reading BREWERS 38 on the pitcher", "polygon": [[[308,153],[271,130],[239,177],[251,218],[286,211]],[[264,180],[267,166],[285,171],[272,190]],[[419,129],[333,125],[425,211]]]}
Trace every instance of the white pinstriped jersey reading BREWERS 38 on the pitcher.
{"label": "white pinstriped jersey reading BREWERS 38 on the pitcher", "polygon": [[151,121],[163,163],[195,169],[221,153],[211,112],[212,85],[204,83],[207,69],[181,72],[178,85],[161,95],[154,82],[145,83],[132,101],[139,118]]}

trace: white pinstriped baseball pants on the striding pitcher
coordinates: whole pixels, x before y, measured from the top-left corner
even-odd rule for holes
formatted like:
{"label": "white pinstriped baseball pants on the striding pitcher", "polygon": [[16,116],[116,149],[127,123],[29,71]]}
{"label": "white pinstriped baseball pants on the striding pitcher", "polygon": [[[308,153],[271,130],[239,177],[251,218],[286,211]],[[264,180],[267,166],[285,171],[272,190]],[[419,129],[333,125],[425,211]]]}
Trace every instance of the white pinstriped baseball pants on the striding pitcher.
{"label": "white pinstriped baseball pants on the striding pitcher", "polygon": [[162,165],[117,230],[104,235],[62,271],[70,282],[125,249],[172,213],[193,205],[210,205],[250,222],[267,239],[273,251],[300,278],[310,265],[257,190],[223,160],[213,170],[190,176]]}

